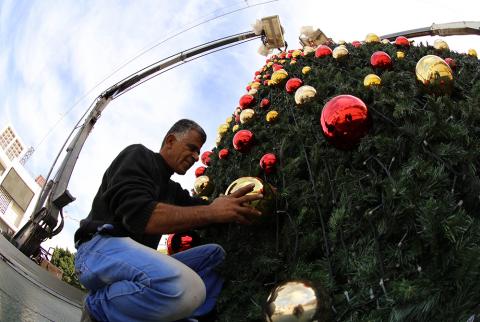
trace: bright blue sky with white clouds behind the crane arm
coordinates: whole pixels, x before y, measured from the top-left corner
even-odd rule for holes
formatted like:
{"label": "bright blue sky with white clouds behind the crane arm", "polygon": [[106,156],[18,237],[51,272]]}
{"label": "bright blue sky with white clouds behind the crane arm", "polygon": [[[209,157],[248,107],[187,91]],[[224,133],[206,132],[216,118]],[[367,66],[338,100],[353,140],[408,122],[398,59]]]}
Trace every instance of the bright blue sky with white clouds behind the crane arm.
{"label": "bright blue sky with white clouds behind the crane arm", "polygon": [[[250,31],[262,17],[279,15],[288,48],[296,49],[302,26],[351,42],[371,32],[381,36],[432,23],[480,21],[479,9],[473,0],[2,0],[0,128],[11,124],[35,149],[25,166],[33,177],[45,177],[69,133],[104,90],[165,57]],[[437,38],[415,41],[433,44]],[[443,39],[457,52],[480,53],[480,36]],[[158,151],[169,127],[189,118],[207,132],[202,152],[213,148],[218,126],[265,63],[257,53],[260,44],[254,40],[183,64],[112,101],[71,177],[68,189],[77,200],[64,210],[65,227],[43,246],[74,251],[79,220],[87,216],[103,172],[127,145],[142,143]],[[190,190],[198,166],[173,179]]]}

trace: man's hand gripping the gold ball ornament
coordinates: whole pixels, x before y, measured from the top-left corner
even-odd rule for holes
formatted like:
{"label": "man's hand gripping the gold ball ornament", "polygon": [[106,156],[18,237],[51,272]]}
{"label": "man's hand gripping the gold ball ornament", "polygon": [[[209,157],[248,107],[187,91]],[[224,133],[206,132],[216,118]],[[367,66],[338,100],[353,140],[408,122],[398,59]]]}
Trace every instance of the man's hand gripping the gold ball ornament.
{"label": "man's hand gripping the gold ball ornament", "polygon": [[250,201],[263,198],[262,194],[247,195],[254,187],[254,184],[249,184],[228,196],[222,195],[216,198],[209,206],[213,221],[250,224],[253,219],[260,216],[262,213],[248,204]]}

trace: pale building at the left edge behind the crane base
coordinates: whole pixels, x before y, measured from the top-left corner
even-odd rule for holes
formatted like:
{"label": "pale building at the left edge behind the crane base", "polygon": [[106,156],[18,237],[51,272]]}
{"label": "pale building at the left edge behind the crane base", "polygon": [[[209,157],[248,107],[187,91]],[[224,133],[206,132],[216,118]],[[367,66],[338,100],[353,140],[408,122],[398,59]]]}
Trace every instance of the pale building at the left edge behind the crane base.
{"label": "pale building at the left edge behind the crane base", "polygon": [[0,231],[3,235],[12,236],[28,221],[45,181],[41,176],[33,179],[23,166],[31,152],[25,149],[11,125],[0,131]]}

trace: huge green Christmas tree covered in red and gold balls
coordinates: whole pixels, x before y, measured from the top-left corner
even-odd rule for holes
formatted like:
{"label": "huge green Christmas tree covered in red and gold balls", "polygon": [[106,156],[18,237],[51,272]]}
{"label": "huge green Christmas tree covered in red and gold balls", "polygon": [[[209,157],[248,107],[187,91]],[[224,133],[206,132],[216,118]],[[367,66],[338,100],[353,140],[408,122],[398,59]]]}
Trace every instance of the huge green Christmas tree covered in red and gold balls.
{"label": "huge green Christmas tree covered in red and gold balls", "polygon": [[[265,321],[278,283],[318,321],[466,321],[480,303],[480,64],[404,38],[270,56],[219,127],[197,192],[257,177],[273,209],[220,225],[220,321]],[[235,103],[233,103],[235,104]],[[271,191],[269,191],[271,187]]]}

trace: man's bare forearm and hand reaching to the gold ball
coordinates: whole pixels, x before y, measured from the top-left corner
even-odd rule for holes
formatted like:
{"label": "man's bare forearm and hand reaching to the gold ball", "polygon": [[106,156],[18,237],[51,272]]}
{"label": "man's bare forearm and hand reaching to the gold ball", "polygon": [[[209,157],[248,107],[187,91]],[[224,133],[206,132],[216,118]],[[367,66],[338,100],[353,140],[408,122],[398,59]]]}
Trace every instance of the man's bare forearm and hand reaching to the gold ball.
{"label": "man's bare forearm and hand reaching to the gold ball", "polygon": [[261,212],[247,203],[263,198],[261,194],[247,195],[253,187],[249,185],[231,195],[220,196],[206,206],[181,207],[159,202],[147,222],[145,233],[167,234],[214,223],[249,224]]}

